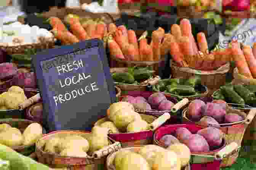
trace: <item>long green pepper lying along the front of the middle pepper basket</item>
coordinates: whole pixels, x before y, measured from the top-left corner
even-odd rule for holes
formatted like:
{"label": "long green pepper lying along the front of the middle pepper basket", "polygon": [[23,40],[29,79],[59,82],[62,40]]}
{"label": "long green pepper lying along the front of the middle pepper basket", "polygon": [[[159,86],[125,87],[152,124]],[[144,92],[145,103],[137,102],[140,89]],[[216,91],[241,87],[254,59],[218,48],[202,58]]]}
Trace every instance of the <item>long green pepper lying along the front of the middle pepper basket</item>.
{"label": "long green pepper lying along the front of the middle pepper basket", "polygon": [[188,85],[168,85],[167,92],[181,96],[190,96],[196,93],[195,89]]}

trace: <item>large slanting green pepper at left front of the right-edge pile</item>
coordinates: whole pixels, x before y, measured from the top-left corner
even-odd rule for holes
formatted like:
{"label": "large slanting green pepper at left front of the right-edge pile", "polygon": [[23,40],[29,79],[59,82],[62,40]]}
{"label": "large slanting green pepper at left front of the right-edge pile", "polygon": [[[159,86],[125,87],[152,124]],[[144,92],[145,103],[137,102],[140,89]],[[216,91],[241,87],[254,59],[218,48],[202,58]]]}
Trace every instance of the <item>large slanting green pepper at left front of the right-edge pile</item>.
{"label": "large slanting green pepper at left front of the right-edge pile", "polygon": [[245,104],[244,99],[235,92],[234,87],[231,85],[222,86],[220,88],[221,93],[224,95],[225,99],[228,99],[230,102],[235,104]]}

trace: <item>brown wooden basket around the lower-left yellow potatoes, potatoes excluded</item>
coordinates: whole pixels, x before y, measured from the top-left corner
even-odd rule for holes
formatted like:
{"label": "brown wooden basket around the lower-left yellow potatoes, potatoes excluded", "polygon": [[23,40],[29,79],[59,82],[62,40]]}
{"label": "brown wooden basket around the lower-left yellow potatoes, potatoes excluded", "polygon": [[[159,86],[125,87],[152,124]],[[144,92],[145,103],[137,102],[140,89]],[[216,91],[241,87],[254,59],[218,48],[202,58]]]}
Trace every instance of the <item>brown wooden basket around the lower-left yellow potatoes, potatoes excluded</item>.
{"label": "brown wooden basket around the lower-left yellow potatoes, potatoes excluded", "polygon": [[[35,122],[31,121],[31,120],[26,120],[26,119],[10,118],[10,119],[0,119],[0,124],[2,124],[2,123],[10,124],[11,127],[17,128],[23,133],[24,130],[27,128],[27,126],[29,126],[31,123],[35,123]],[[46,131],[43,128],[43,134],[45,134],[45,133],[46,133]],[[28,156],[35,151],[35,143],[33,143],[32,145],[14,146],[11,148],[25,156]]]}

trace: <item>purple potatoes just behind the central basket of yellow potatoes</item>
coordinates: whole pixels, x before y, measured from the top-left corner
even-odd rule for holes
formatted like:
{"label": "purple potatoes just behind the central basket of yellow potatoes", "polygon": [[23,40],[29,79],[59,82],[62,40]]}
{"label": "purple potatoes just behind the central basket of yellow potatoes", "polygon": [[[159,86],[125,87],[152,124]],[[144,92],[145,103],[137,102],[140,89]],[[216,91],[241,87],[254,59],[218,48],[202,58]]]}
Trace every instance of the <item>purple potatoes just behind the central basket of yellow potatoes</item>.
{"label": "purple potatoes just behind the central basket of yellow potatoes", "polygon": [[174,106],[174,101],[169,101],[166,99],[163,93],[153,93],[149,96],[148,99],[139,96],[125,96],[122,98],[123,102],[129,102],[133,105],[134,109],[138,110],[171,110]]}

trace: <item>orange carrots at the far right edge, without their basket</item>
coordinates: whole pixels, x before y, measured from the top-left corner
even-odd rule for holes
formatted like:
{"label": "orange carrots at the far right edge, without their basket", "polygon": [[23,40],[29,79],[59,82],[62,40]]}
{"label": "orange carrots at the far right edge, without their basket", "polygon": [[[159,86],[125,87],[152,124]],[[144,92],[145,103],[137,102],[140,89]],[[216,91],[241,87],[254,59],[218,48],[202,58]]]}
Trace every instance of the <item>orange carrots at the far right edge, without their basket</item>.
{"label": "orange carrots at the far right edge, without their basket", "polygon": [[253,48],[243,46],[241,49],[238,42],[232,42],[232,56],[240,74],[250,79],[256,78],[256,43]]}

